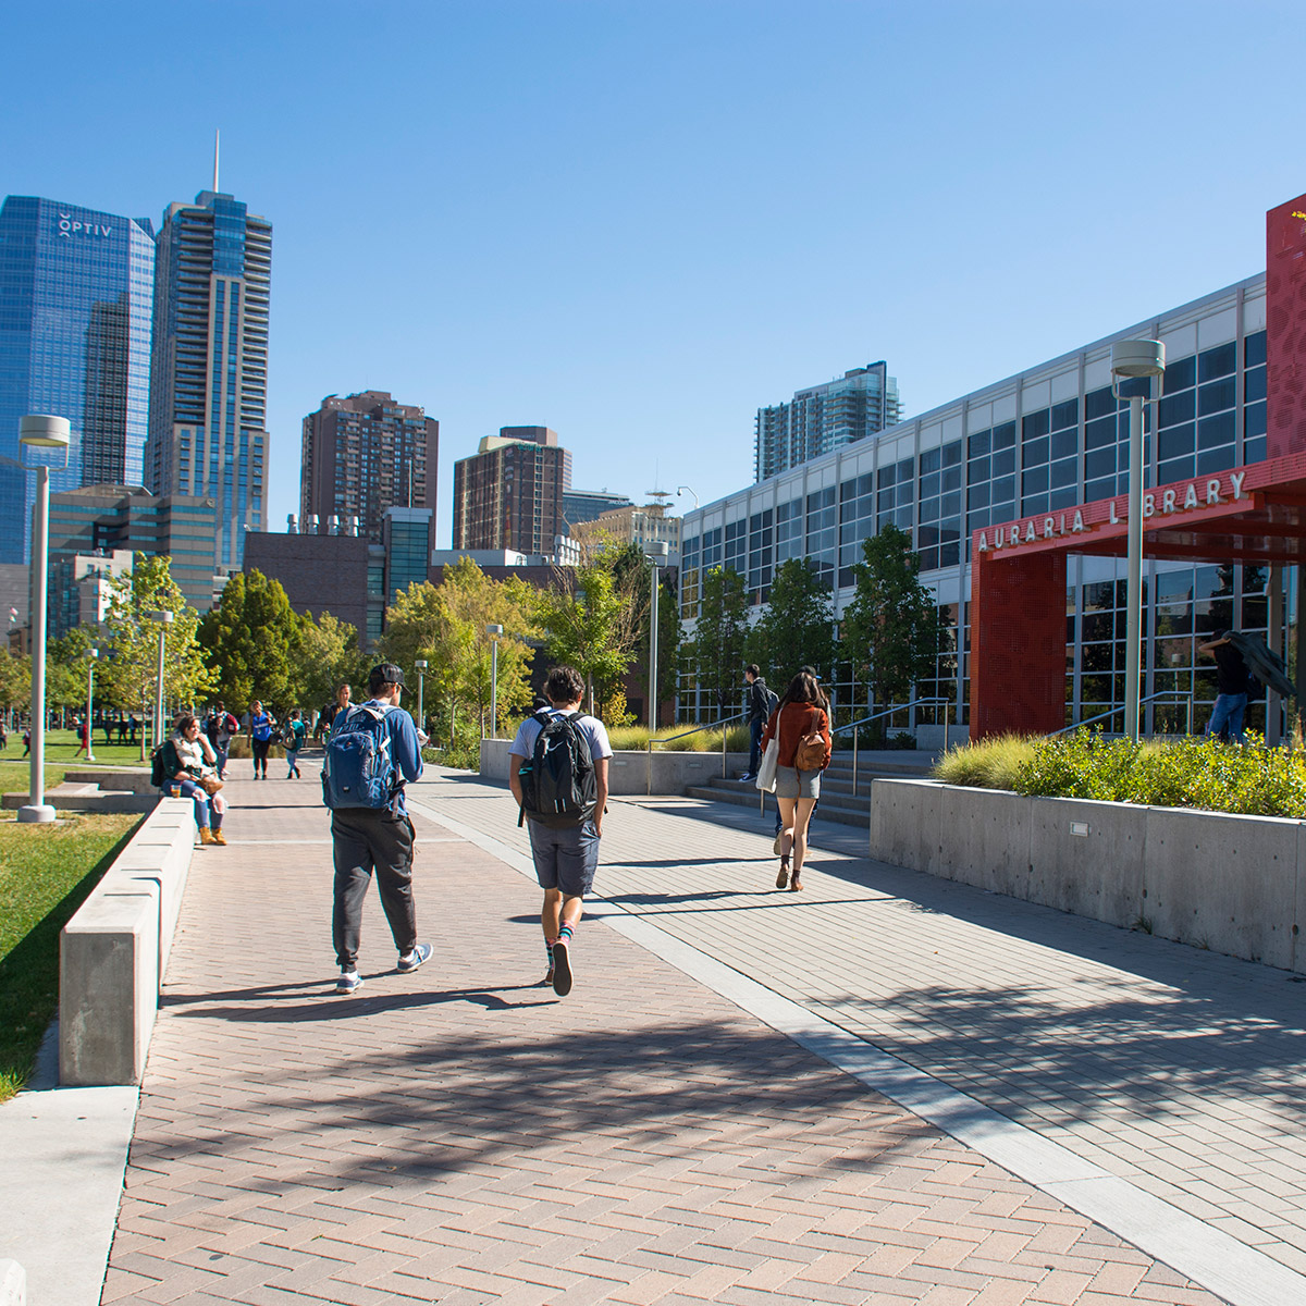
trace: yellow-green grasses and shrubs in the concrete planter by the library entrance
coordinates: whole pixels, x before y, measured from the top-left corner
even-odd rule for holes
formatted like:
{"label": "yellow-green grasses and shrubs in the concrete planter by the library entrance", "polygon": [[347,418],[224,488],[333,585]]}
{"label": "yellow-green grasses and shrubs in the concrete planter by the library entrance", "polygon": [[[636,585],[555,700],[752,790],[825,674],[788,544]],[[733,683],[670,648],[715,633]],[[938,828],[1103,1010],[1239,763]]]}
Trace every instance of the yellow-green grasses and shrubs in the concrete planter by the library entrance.
{"label": "yellow-green grasses and shrubs in the concrete planter by the library entrance", "polygon": [[1042,798],[1194,807],[1246,816],[1306,816],[1306,754],[1218,739],[1109,739],[1076,730],[1050,739],[1004,735],[951,750],[935,774],[953,785]]}

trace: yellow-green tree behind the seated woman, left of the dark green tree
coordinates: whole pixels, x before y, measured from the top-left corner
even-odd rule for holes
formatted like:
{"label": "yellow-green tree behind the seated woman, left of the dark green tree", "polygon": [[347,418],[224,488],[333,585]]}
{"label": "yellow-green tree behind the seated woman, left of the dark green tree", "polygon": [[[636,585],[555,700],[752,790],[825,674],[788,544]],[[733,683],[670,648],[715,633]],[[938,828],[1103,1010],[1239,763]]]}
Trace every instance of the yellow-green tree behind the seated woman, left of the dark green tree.
{"label": "yellow-green tree behind the seated woman, left of the dark green tree", "polygon": [[[145,614],[172,613],[163,629],[163,695],[193,704],[213,688],[215,678],[199,641],[200,614],[185,602],[172,580],[167,555],[136,554],[131,572],[110,582],[108,615],[104,619],[99,682],[108,703],[148,720],[153,712],[158,675],[161,627]],[[141,731],[141,757],[145,733]]]}

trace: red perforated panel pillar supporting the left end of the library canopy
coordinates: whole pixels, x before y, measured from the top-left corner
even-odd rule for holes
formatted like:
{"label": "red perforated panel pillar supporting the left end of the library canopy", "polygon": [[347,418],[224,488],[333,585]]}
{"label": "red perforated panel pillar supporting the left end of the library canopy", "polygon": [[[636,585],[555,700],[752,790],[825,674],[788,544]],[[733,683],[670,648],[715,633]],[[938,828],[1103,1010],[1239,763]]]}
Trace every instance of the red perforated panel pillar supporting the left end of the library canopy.
{"label": "red perforated panel pillar supporting the left end of the library canopy", "polygon": [[1066,552],[978,554],[970,586],[970,738],[1059,730]]}

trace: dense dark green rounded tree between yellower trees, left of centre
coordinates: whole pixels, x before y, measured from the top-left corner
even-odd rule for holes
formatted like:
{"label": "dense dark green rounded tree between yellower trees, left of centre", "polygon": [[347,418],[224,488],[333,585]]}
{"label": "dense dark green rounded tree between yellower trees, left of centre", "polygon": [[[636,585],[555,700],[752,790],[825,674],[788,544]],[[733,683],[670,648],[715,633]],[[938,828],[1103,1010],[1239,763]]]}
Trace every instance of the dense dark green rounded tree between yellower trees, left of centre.
{"label": "dense dark green rounded tree between yellower trees, left of centre", "polygon": [[244,712],[255,699],[278,710],[294,707],[299,636],[300,620],[281,581],[257,568],[236,572],[200,623],[227,707]]}

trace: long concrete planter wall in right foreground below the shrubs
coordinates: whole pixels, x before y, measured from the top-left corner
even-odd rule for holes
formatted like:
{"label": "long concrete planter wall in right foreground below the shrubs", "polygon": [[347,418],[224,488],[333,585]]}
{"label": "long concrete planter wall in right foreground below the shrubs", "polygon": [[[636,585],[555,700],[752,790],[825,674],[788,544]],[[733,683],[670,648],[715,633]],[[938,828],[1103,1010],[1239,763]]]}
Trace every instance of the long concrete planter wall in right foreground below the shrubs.
{"label": "long concrete planter wall in right foreground below the shrubs", "polygon": [[871,857],[1247,961],[1306,968],[1306,823],[878,780]]}

